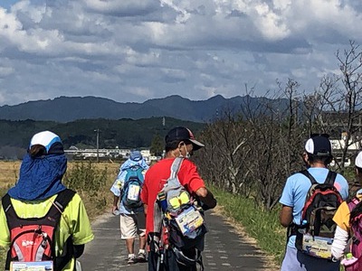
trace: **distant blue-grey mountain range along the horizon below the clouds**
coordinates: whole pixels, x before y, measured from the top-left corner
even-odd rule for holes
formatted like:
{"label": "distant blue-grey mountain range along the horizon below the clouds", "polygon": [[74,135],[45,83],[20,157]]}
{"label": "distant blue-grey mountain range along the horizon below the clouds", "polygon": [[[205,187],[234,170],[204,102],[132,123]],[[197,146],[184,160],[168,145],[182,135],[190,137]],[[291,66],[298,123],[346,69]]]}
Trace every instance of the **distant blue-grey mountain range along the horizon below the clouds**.
{"label": "distant blue-grey mountain range along the horizon below the clouds", "polygon": [[206,100],[190,100],[177,95],[152,98],[143,103],[116,102],[99,97],[59,97],[47,100],[28,101],[14,106],[0,107],[0,119],[55,121],[66,123],[78,119],[140,119],[148,117],[174,117],[193,122],[210,122],[224,112],[239,112],[247,105],[258,108],[268,103],[269,107],[286,107],[287,99],[252,98],[221,95]]}

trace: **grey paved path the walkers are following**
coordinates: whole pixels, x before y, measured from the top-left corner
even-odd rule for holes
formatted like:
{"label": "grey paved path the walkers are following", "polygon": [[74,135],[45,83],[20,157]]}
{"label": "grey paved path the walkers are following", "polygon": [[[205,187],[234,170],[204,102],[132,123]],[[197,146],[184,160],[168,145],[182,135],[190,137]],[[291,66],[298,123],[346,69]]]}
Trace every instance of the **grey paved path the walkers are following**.
{"label": "grey paved path the walkers are following", "polygon": [[[205,270],[278,270],[268,267],[268,260],[262,252],[248,238],[235,233],[235,229],[223,217],[209,212],[206,222],[209,232],[203,252]],[[145,263],[127,265],[127,250],[119,237],[119,217],[103,215],[93,224],[93,231],[95,239],[86,245],[80,259],[83,271],[148,269]]]}

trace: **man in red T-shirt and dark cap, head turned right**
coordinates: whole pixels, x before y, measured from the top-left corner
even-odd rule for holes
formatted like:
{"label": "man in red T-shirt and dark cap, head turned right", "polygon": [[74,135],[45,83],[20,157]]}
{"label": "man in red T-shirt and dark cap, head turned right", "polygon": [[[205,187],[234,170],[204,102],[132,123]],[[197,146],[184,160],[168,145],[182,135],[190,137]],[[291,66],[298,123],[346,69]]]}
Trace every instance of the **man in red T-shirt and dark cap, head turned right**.
{"label": "man in red T-shirt and dark cap, head turned right", "polygon": [[[148,245],[150,245],[148,270],[196,270],[196,266],[178,264],[172,249],[168,249],[165,254],[165,265],[158,266],[159,256],[151,243],[155,241],[155,236],[159,237],[159,233],[155,232],[154,229],[154,205],[157,200],[157,193],[160,192],[170,177],[171,165],[176,157],[189,158],[195,150],[205,145],[196,141],[192,132],[182,126],[171,129],[165,137],[165,143],[166,157],[149,168],[141,192],[141,200],[145,204],[145,213],[147,214],[146,231],[148,234]],[[184,159],[177,177],[179,182],[185,186],[187,192],[203,203],[205,210],[213,209],[216,206],[214,195],[206,189],[205,182],[197,173],[197,168],[193,162]]]}

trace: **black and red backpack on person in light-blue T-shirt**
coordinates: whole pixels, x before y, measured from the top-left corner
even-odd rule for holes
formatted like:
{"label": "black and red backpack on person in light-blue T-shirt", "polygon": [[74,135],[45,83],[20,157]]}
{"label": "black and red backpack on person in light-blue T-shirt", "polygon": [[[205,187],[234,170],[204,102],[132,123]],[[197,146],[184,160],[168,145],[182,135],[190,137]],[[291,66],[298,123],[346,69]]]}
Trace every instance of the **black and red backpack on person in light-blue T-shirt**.
{"label": "black and red backpack on person in light-blue T-shirt", "polygon": [[342,203],[334,187],[337,173],[329,171],[324,183],[317,182],[308,171],[300,172],[310,179],[311,186],[297,226],[296,248],[312,257],[330,259],[330,248],[337,224],[333,216]]}

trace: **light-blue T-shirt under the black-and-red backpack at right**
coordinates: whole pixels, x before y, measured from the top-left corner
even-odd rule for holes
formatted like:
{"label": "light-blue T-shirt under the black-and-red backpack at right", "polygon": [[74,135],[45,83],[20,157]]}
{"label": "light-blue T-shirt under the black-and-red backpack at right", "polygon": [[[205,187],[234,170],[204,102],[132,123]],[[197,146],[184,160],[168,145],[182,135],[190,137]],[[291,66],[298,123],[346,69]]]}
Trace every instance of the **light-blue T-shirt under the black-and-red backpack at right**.
{"label": "light-blue T-shirt under the black-and-red backpack at right", "polygon": [[[326,181],[329,169],[320,167],[311,167],[309,173],[317,182]],[[293,223],[300,225],[301,211],[303,210],[307,193],[310,190],[310,179],[302,173],[292,174],[285,183],[281,194],[281,204],[292,207]],[[337,188],[344,201],[348,198],[348,182],[341,174],[337,174],[334,186]],[[295,248],[295,236],[289,238],[288,246]]]}

